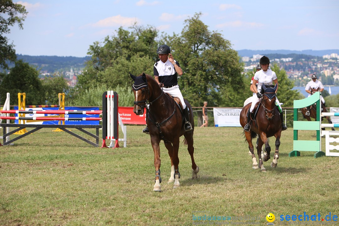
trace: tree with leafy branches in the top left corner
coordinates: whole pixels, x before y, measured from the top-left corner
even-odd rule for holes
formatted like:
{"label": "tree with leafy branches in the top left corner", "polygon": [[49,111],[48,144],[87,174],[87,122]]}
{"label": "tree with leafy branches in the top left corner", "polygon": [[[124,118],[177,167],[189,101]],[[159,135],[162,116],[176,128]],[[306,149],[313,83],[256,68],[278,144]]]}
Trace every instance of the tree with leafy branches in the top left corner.
{"label": "tree with leafy branches in the top left corner", "polygon": [[14,44],[8,43],[4,34],[9,34],[9,27],[15,23],[22,29],[27,13],[23,5],[13,3],[12,0],[0,0],[0,68],[8,69],[6,60],[16,60]]}

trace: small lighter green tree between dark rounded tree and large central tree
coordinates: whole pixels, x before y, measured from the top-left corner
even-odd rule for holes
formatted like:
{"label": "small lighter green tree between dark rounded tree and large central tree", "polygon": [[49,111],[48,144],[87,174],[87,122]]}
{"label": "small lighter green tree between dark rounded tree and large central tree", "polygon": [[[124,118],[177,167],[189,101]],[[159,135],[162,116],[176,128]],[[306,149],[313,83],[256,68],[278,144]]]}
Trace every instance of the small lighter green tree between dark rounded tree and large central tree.
{"label": "small lighter green tree between dark rounded tree and large central tree", "polygon": [[61,76],[45,77],[42,80],[42,86],[45,91],[46,104],[58,104],[58,94],[67,93],[69,89],[67,81]]}

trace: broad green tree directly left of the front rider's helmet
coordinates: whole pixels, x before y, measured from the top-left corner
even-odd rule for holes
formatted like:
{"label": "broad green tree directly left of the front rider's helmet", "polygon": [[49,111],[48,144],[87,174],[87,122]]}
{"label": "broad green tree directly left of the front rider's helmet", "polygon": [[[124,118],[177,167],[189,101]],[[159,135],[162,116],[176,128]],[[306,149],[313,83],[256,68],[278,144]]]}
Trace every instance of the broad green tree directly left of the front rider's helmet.
{"label": "broad green tree directly left of the front rider's helmet", "polygon": [[92,58],[86,62],[84,73],[78,76],[80,92],[98,84],[108,87],[130,85],[129,72],[153,75],[158,32],[154,27],[136,24],[130,29],[120,27],[116,36],[107,36],[103,43],[95,42],[89,47],[87,54]]}

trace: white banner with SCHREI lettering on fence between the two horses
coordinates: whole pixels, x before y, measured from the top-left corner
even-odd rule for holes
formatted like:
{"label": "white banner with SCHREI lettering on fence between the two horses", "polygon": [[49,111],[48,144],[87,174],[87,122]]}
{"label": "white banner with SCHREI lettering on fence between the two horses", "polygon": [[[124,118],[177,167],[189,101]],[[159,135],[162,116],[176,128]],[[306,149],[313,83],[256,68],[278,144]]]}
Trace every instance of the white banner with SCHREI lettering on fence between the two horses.
{"label": "white banner with SCHREI lettering on fence between the two horses", "polygon": [[240,111],[242,108],[213,108],[215,127],[240,126]]}

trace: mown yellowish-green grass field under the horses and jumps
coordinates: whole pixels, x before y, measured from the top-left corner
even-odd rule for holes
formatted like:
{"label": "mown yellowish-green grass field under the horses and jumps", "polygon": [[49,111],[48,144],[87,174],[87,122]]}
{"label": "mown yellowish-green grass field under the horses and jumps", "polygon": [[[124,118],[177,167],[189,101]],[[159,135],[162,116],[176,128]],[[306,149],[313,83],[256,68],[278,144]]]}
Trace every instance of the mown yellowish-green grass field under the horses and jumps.
{"label": "mown yellowish-green grass field under the horses and jumps", "polygon": [[[277,168],[271,168],[271,158],[265,173],[252,169],[241,128],[196,128],[198,179],[191,179],[182,144],[177,189],[167,184],[171,164],[162,143],[162,192],[153,191],[153,150],[141,129],[127,126],[127,148],[95,148],[47,128],[1,146],[0,225],[266,225],[270,212],[280,225],[287,222],[280,215],[305,212],[308,223],[315,223],[312,214],[317,220],[321,215],[316,223],[326,222],[330,212],[339,215],[339,158],[315,159],[306,151],[289,158],[292,128],[282,132]],[[302,131],[299,139],[316,140],[316,134]],[[274,147],[274,139],[270,143]],[[204,214],[231,220],[192,220]]]}

